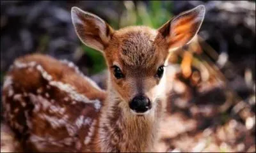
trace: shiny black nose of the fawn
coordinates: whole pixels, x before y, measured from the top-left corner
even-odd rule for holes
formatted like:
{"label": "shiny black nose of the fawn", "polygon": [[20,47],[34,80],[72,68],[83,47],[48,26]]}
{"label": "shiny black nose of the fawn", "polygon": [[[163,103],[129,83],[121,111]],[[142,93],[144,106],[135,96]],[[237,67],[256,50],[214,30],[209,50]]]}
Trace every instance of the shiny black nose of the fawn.
{"label": "shiny black nose of the fawn", "polygon": [[145,96],[136,96],[129,103],[129,106],[137,113],[144,113],[151,108],[151,103]]}

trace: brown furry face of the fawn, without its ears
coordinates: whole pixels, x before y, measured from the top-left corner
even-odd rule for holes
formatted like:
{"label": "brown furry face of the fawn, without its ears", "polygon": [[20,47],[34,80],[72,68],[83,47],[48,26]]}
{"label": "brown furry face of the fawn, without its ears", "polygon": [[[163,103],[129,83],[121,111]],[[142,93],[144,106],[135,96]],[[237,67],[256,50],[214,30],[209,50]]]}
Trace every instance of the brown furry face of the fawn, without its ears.
{"label": "brown furry face of the fawn, without its ears", "polygon": [[167,50],[161,34],[148,27],[113,33],[105,50],[111,84],[133,112],[147,112],[160,96]]}

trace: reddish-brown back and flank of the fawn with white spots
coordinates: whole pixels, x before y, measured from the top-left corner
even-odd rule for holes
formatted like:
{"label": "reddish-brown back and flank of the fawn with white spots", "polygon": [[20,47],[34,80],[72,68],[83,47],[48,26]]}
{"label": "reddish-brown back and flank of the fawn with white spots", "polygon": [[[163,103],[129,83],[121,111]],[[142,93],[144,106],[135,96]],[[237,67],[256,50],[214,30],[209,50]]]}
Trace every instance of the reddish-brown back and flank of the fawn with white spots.
{"label": "reddish-brown back and flank of the fawn with white spots", "polygon": [[72,62],[27,55],[17,59],[6,75],[4,117],[24,139],[24,146],[79,151],[90,143],[105,96]]}

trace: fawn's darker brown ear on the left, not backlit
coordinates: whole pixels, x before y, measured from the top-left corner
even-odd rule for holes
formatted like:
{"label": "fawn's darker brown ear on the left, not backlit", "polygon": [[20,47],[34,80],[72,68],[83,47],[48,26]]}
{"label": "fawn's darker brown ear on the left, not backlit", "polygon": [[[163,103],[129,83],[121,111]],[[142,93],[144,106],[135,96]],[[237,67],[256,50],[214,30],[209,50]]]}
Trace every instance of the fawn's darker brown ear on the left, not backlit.
{"label": "fawn's darker brown ear on the left, not backlit", "polygon": [[79,39],[86,46],[104,52],[113,29],[102,18],[77,7],[72,7],[71,17]]}

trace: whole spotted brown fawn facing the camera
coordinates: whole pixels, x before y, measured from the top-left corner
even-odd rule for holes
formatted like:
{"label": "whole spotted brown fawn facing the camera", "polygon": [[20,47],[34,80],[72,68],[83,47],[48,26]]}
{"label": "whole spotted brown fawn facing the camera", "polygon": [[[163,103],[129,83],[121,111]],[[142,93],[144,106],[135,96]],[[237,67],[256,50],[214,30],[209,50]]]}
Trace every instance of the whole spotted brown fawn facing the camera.
{"label": "whole spotted brown fawn facing the camera", "polygon": [[154,151],[166,101],[166,57],[198,33],[204,6],[159,29],[114,30],[77,7],[71,14],[79,39],[106,59],[108,89],[72,62],[40,54],[19,57],[4,78],[4,119],[24,151]]}

